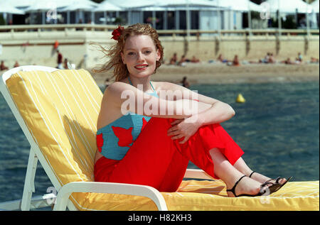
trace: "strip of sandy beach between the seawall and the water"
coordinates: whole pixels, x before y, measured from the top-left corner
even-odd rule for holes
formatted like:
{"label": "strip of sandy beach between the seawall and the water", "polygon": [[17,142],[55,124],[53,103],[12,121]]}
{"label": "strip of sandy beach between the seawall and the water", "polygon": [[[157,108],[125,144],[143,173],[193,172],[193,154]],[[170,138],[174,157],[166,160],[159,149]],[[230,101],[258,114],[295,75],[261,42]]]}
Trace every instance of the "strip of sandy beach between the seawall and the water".
{"label": "strip of sandy beach between the seawall and the water", "polygon": [[[90,72],[91,70],[88,69]],[[112,77],[112,71],[106,73],[91,72],[99,86],[106,78]],[[191,84],[230,84],[262,82],[319,82],[319,64],[250,64],[238,67],[215,63],[187,63],[184,67],[161,65],[154,81],[178,83],[186,76]],[[110,79],[112,81],[112,79]]]}

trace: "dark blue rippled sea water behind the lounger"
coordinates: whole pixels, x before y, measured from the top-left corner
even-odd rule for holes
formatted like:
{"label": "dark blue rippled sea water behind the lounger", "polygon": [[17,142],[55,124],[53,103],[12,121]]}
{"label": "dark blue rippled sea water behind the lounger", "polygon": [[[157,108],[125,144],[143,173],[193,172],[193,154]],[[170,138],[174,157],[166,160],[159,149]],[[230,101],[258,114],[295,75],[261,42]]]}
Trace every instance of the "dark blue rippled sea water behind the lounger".
{"label": "dark blue rippled sea water behind the lounger", "polygon": [[[198,84],[190,89],[235,109],[235,116],[221,125],[252,170],[268,177],[293,176],[293,181],[319,180],[319,82]],[[235,102],[238,94],[245,103]],[[29,149],[0,94],[0,202],[21,199]],[[52,186],[38,163],[34,194],[46,194]]]}

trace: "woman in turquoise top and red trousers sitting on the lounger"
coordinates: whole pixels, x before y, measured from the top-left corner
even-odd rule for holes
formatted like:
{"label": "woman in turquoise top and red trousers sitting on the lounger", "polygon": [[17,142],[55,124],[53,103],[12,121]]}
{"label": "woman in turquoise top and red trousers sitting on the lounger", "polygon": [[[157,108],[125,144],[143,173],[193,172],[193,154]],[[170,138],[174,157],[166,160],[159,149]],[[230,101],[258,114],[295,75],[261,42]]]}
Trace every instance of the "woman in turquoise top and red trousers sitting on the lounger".
{"label": "woman in turquoise top and red trousers sitting on the lounger", "polygon": [[[97,119],[96,182],[149,185],[176,192],[188,161],[225,182],[229,197],[279,190],[289,179],[253,172],[243,151],[220,126],[235,115],[222,101],[171,82],[154,82],[164,48],[148,24],[119,26],[115,44],[100,48],[115,81],[102,97]],[[174,95],[173,95],[174,94]]]}

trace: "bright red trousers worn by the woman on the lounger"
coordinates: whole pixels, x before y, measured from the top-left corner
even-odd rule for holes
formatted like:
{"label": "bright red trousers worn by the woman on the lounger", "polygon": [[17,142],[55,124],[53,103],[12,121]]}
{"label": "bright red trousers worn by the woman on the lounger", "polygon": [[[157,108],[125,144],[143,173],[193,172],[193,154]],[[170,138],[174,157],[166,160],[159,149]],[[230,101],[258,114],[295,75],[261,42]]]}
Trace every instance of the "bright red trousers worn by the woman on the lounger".
{"label": "bright red trousers worn by the woman on the lounger", "polygon": [[[167,131],[173,121],[152,117],[122,160],[97,160],[95,181],[149,185],[160,192],[175,192],[189,160],[218,179],[209,150],[218,148],[232,165],[243,154],[220,124],[201,126],[183,144],[178,143],[183,138],[171,140]],[[102,147],[99,141],[97,144]]]}

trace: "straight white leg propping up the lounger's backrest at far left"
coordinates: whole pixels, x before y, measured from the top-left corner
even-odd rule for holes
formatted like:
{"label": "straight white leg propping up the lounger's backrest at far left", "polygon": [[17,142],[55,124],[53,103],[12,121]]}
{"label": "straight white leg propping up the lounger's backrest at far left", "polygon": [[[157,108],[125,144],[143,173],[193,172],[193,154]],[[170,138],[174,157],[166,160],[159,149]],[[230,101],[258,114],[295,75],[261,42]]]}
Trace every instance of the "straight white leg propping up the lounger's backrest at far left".
{"label": "straight white leg propping up the lounger's backrest at far left", "polygon": [[28,167],[26,171],[26,180],[24,181],[23,195],[21,201],[21,210],[30,210],[32,192],[35,192],[34,177],[36,175],[38,158],[32,148],[30,148]]}

